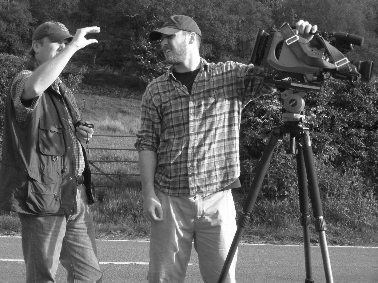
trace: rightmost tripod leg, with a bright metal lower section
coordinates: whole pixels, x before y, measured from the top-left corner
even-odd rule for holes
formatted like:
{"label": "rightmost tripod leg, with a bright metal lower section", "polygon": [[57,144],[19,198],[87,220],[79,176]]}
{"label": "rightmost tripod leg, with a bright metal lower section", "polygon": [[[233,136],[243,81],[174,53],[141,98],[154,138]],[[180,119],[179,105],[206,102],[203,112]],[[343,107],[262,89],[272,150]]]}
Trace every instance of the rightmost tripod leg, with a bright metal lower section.
{"label": "rightmost tripod leg, with a bright metal lower section", "polygon": [[308,131],[305,131],[304,135],[302,136],[302,146],[307,172],[308,186],[310,188],[310,198],[315,218],[315,228],[319,234],[319,242],[323,258],[325,279],[327,283],[333,283],[332,269],[327,247],[327,238],[325,235],[325,231],[327,230],[327,228],[325,226],[325,221],[323,218],[323,209],[321,205],[318,179],[316,177],[314,157],[311,147],[310,134]]}

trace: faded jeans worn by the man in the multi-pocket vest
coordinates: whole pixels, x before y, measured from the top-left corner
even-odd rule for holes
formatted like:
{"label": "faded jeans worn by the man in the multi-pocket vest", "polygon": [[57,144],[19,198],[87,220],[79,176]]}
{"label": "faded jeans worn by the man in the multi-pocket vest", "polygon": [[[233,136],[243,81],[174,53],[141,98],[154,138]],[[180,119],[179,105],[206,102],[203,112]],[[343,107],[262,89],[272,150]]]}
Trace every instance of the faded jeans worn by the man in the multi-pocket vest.
{"label": "faded jeans worn by the man in the multi-pocket vest", "polygon": [[28,215],[19,213],[26,283],[55,283],[59,264],[69,283],[101,283],[93,216],[85,186],[77,187],[77,214]]}

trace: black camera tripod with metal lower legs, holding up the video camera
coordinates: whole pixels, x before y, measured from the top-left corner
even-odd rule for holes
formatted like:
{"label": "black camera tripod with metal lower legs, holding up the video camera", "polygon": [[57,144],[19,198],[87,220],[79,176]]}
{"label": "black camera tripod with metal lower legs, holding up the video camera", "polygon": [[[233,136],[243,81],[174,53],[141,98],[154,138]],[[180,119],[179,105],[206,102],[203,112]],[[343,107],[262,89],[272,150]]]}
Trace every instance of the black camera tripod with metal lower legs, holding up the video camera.
{"label": "black camera tripod with metal lower legs, holding up the video camera", "polygon": [[[237,231],[229,249],[225,264],[223,265],[218,283],[224,282],[231,266],[239,244],[240,237],[248,225],[251,212],[256,203],[257,196],[261,189],[263,179],[268,169],[274,148],[276,147],[279,137],[283,134],[290,134],[290,147],[287,150],[288,154],[296,155],[297,162],[297,177],[299,189],[299,208],[301,212],[301,226],[303,230],[304,239],[304,253],[305,253],[305,269],[306,278],[305,283],[313,283],[311,269],[311,254],[310,254],[310,215],[308,208],[308,192],[310,192],[310,199],[313,208],[313,215],[315,218],[315,228],[319,235],[319,242],[321,247],[325,278],[327,283],[333,283],[332,270],[330,266],[330,259],[327,248],[327,239],[325,235],[326,226],[323,218],[323,211],[321,205],[321,198],[319,194],[318,179],[316,177],[315,164],[313,159],[313,152],[311,147],[309,129],[303,125],[304,121],[304,97],[307,92],[300,90],[286,90],[282,92],[283,99],[283,125],[272,129],[268,137],[264,152],[262,154],[256,176],[249,190],[248,196],[243,207],[243,213],[240,215],[237,223]],[[308,187],[307,188],[307,183]]]}

